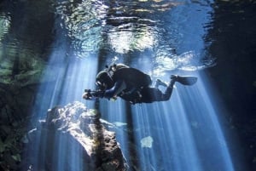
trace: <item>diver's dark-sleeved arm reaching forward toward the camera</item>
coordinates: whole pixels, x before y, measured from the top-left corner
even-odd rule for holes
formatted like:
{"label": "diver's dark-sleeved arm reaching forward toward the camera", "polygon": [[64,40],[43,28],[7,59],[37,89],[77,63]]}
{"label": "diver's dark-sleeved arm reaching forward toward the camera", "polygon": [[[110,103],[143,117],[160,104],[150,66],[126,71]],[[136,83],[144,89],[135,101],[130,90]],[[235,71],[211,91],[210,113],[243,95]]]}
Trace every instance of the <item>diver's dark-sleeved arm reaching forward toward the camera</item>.
{"label": "diver's dark-sleeved arm reaching forward toward the camera", "polygon": [[114,83],[113,88],[107,89],[103,94],[104,98],[111,99],[121,93],[126,88],[125,82],[123,80],[119,80]]}

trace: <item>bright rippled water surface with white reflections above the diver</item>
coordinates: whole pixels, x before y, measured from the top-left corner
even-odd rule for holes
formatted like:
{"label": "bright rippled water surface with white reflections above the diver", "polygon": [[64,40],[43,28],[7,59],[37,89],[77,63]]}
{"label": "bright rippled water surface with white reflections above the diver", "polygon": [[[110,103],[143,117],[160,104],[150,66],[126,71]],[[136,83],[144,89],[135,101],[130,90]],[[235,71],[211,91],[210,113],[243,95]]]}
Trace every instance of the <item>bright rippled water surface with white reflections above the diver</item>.
{"label": "bright rippled water surface with white reflections above the diver", "polygon": [[212,13],[211,2],[205,1],[56,3],[61,28],[79,57],[100,50],[109,57],[136,59],[146,51],[149,54],[143,55],[153,59],[156,68],[167,70],[196,70],[214,63],[205,56],[204,43]]}

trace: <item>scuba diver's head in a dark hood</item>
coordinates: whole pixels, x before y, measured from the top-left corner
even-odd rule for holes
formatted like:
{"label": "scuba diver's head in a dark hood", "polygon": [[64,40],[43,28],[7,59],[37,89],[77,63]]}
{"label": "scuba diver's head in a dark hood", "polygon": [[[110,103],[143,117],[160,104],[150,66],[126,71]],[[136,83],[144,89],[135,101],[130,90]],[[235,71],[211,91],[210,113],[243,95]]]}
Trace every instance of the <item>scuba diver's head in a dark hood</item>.
{"label": "scuba diver's head in a dark hood", "polygon": [[111,88],[113,86],[113,80],[108,75],[108,71],[100,71],[96,76],[96,86],[101,90]]}

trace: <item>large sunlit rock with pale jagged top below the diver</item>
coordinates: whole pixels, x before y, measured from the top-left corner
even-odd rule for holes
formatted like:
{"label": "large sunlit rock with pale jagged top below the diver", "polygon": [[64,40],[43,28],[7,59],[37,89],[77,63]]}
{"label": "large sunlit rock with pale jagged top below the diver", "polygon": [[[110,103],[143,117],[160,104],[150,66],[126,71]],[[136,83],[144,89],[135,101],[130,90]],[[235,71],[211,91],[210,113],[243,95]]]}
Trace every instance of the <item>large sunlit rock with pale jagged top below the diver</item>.
{"label": "large sunlit rock with pale jagged top below the diver", "polygon": [[27,137],[28,151],[35,152],[26,167],[35,170],[127,170],[115,134],[80,102],[50,109]]}

